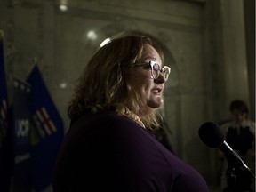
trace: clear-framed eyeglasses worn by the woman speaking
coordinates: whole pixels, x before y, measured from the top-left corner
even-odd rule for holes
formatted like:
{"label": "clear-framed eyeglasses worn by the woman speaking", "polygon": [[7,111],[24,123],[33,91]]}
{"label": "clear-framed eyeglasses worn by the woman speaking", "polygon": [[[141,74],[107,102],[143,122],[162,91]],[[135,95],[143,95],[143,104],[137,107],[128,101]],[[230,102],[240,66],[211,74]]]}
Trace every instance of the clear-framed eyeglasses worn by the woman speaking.
{"label": "clear-framed eyeglasses worn by the woman speaking", "polygon": [[171,73],[171,68],[169,68],[168,66],[164,66],[163,68],[160,68],[159,64],[153,60],[150,60],[149,62],[138,62],[138,63],[135,62],[132,65],[133,68],[139,67],[139,66],[149,67],[151,71],[151,76],[154,79],[157,79],[160,73],[162,73],[164,75],[164,80],[167,80],[168,76]]}

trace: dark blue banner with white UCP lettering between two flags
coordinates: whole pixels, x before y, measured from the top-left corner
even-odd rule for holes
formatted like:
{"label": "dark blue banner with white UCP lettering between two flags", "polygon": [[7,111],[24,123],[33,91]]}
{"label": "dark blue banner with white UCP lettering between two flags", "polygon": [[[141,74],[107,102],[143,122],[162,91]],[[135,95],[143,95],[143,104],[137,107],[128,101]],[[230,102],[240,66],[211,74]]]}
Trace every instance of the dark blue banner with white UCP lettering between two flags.
{"label": "dark blue banner with white UCP lettering between two flags", "polygon": [[13,78],[12,188],[14,192],[31,191],[30,91],[29,84]]}

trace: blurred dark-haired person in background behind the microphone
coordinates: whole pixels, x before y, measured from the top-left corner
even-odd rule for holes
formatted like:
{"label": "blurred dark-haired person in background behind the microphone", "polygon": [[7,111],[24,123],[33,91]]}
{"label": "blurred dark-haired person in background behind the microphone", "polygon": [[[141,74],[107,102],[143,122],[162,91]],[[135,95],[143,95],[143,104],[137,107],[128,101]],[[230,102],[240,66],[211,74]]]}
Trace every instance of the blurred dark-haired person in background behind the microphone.
{"label": "blurred dark-haired person in background behind the microphone", "polygon": [[[249,109],[244,100],[233,100],[229,105],[230,118],[220,124],[228,145],[236,151],[244,163],[255,170],[255,122],[248,119]],[[237,169],[219,151],[221,161],[220,186],[223,192],[255,191],[255,178]]]}

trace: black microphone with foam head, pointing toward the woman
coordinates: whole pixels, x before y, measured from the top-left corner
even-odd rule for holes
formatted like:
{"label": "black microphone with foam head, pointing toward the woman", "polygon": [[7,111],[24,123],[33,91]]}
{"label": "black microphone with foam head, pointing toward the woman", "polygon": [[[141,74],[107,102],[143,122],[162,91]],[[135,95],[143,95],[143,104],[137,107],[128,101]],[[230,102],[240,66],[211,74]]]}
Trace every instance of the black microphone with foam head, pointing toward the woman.
{"label": "black microphone with foam head, pointing toward the woman", "polygon": [[255,175],[251,171],[251,169],[244,164],[244,161],[240,156],[236,154],[236,152],[230,148],[228,143],[225,141],[224,132],[220,129],[217,124],[212,122],[205,122],[202,124],[198,130],[198,134],[200,139],[204,142],[206,146],[209,148],[220,148],[220,150],[224,153],[227,160],[238,167],[247,170],[252,174],[252,177],[255,178]]}

